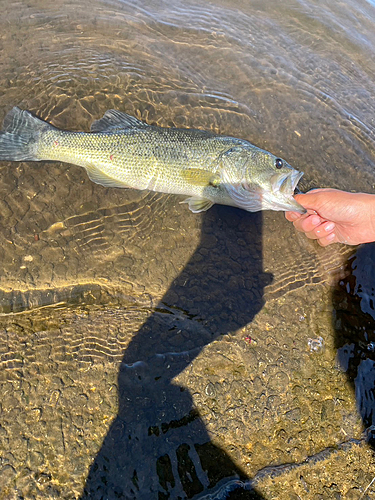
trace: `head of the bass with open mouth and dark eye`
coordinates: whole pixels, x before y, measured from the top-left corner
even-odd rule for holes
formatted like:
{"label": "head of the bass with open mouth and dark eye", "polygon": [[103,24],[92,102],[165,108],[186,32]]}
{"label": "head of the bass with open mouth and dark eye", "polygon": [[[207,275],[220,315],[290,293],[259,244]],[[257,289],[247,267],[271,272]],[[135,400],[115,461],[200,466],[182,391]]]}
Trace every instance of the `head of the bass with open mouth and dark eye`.
{"label": "head of the bass with open mouth and dark eye", "polygon": [[223,177],[236,206],[249,212],[291,210],[306,213],[293,197],[303,172],[295,170],[282,158],[250,144],[232,148],[230,155],[229,168],[223,169]]}

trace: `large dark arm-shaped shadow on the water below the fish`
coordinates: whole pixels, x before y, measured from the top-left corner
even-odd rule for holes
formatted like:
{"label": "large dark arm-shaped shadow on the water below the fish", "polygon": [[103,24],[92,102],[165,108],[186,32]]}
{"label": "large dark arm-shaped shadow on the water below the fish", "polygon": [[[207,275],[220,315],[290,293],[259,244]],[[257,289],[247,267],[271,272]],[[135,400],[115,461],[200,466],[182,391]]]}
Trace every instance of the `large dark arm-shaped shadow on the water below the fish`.
{"label": "large dark arm-shaped shadow on the water below the fish", "polygon": [[126,349],[118,415],[82,498],[262,498],[210,441],[189,391],[173,379],[207,344],[252,321],[270,281],[261,214],[218,206],[204,213],[197,250]]}

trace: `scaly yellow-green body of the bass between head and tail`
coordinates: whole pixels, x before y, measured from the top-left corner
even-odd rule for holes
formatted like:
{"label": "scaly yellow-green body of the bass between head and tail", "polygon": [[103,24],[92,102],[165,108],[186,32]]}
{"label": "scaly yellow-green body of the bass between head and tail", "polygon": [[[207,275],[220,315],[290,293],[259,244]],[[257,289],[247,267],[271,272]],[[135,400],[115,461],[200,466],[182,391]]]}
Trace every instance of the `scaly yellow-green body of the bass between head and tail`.
{"label": "scaly yellow-green body of the bass between head and tail", "polygon": [[[110,177],[136,189],[164,193],[198,194],[202,186],[191,186],[182,171],[191,168],[219,170],[218,156],[238,141],[186,133],[178,129],[91,133],[48,131],[39,142],[40,160],[95,165]],[[177,191],[177,192],[176,192]]]}

